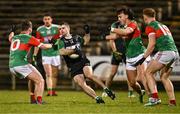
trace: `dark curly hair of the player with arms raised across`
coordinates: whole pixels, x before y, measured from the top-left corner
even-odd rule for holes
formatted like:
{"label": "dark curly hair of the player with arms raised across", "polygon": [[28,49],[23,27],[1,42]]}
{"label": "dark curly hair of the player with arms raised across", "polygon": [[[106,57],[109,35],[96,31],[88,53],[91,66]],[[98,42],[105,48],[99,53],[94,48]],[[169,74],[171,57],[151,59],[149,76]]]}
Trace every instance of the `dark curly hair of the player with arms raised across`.
{"label": "dark curly hair of the player with arms raised across", "polygon": [[128,15],[128,19],[130,20],[134,19],[134,12],[132,11],[132,9],[128,8],[127,6],[122,6],[121,8],[118,8],[116,12],[117,15],[119,15],[120,13],[124,13]]}

